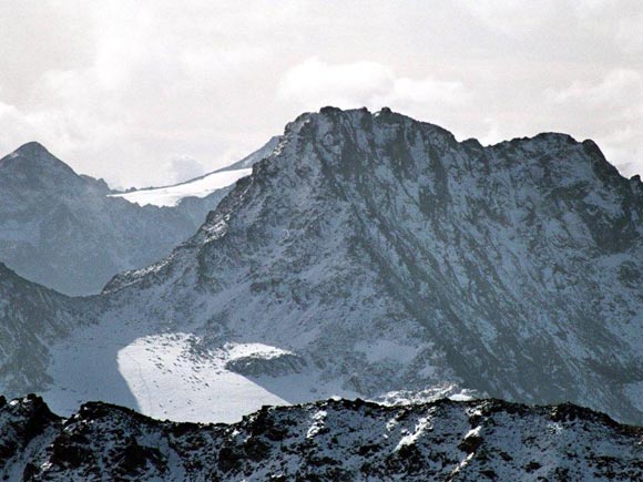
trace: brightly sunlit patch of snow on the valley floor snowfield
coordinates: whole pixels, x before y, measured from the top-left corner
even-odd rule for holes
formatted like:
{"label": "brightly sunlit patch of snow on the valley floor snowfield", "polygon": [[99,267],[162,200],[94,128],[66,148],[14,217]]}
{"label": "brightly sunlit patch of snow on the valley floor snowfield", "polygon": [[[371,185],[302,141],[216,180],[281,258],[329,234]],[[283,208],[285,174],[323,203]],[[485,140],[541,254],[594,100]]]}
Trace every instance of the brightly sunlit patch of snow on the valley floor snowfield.
{"label": "brightly sunlit patch of snow on the valley floor snowfield", "polygon": [[[233,356],[229,351],[192,358],[190,339],[186,334],[145,337],[119,351],[119,371],[142,413],[188,422],[236,422],[264,404],[287,404],[227,370],[225,363]],[[255,355],[271,349],[259,343],[231,348]]]}

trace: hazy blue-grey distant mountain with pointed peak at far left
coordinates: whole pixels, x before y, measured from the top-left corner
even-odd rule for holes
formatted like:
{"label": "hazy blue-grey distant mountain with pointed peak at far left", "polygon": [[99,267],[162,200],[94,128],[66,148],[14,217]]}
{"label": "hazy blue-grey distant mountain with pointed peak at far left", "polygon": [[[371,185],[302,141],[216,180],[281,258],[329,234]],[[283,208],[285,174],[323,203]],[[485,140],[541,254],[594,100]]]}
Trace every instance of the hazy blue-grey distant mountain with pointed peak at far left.
{"label": "hazy blue-grey distant mountain with pointed peak at far left", "polygon": [[42,145],[25,144],[0,160],[0,259],[68,295],[99,293],[116,273],[166,256],[237,178],[186,191],[172,208],[141,207],[111,197],[102,180],[76,174]]}

